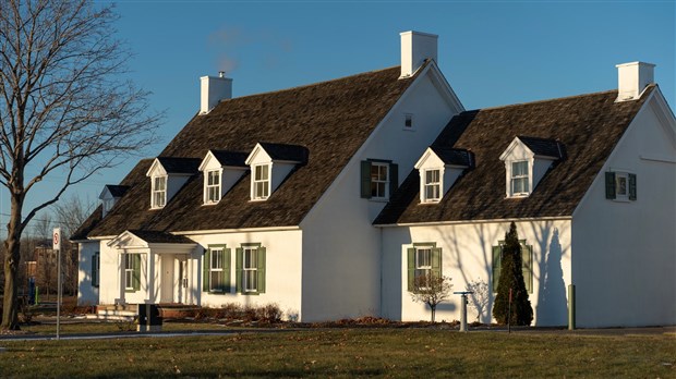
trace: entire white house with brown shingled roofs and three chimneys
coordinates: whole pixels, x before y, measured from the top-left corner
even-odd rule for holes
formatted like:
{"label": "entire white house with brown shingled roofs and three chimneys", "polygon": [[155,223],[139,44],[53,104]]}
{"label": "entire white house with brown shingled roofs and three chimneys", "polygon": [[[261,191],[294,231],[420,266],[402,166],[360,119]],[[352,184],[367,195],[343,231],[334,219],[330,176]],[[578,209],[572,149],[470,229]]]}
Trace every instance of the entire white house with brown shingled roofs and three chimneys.
{"label": "entire white house with brown shingled roofs and three chimneys", "polygon": [[568,284],[579,326],[676,323],[676,122],[653,66],[619,65],[619,91],[464,111],[436,39],[402,33],[400,66],[268,94],[202,77],[201,110],[72,236],[79,302],[426,319],[412,276],[492,283],[515,221],[535,325],[567,322]]}

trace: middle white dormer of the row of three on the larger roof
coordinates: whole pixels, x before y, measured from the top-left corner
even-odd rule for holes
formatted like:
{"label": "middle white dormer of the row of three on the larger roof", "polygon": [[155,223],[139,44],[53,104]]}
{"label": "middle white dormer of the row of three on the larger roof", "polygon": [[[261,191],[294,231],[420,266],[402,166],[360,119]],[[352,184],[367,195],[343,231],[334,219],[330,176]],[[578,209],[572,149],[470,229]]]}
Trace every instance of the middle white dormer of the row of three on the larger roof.
{"label": "middle white dormer of the row of three on the larger roof", "polygon": [[205,205],[218,204],[220,198],[249,170],[245,163],[246,152],[229,150],[209,150],[200,164],[204,176]]}

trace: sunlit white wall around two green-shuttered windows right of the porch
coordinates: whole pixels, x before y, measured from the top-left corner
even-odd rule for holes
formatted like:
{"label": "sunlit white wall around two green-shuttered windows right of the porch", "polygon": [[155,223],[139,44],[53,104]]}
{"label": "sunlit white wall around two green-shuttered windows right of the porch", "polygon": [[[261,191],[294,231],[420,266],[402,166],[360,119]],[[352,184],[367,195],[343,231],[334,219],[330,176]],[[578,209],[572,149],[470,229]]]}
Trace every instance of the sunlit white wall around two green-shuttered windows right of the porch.
{"label": "sunlit white wall around two green-shuttered windows right of the porch", "polygon": [[[277,304],[285,317],[301,317],[301,255],[302,231],[256,231],[190,235],[202,246],[192,261],[190,281],[195,298],[202,306],[220,307],[227,303],[240,305]],[[236,248],[244,243],[259,243],[266,248],[265,293],[244,295],[236,293]],[[226,245],[230,248],[230,293],[214,294],[202,291],[203,249],[208,245]],[[190,279],[189,279],[190,280]]]}

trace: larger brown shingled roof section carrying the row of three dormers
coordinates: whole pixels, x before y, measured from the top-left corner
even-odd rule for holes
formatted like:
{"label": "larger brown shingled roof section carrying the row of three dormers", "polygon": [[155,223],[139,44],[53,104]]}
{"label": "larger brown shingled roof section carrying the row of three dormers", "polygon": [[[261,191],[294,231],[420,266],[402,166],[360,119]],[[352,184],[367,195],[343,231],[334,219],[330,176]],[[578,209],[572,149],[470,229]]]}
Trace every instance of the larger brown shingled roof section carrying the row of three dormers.
{"label": "larger brown shingled roof section carrying the row of three dormers", "polygon": [[415,78],[399,75],[396,66],[219,102],[169,143],[160,154],[162,164],[170,157],[201,160],[209,149],[252,151],[262,142],[273,149],[294,145],[282,155],[297,157],[302,150],[306,163],[266,201],[250,201],[246,173],[218,204],[204,206],[203,176],[196,173],[166,207],[150,209],[145,173],[152,160],[143,160],[121,183],[130,186],[124,197],[86,235],[298,225]]}

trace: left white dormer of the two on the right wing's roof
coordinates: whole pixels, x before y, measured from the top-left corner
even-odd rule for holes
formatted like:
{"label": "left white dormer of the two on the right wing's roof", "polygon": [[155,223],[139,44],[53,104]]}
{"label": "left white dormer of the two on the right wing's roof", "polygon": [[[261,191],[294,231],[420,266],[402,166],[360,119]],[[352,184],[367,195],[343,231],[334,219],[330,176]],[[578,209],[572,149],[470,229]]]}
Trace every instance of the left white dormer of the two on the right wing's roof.
{"label": "left white dormer of the two on the right wing's roof", "polygon": [[420,173],[420,203],[435,204],[464,170],[474,166],[474,155],[464,149],[428,147],[415,163]]}

